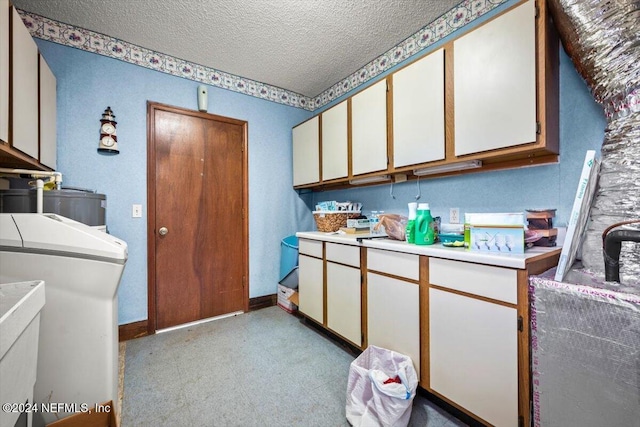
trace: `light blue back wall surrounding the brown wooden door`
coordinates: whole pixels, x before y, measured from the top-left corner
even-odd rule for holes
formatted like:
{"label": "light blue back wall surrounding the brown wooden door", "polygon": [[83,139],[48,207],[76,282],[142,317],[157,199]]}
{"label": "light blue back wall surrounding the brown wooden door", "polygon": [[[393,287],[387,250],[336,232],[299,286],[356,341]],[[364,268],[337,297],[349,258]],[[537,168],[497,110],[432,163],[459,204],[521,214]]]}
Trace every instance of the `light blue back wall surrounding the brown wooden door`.
{"label": "light blue back wall surrounding the brown wooden door", "polygon": [[[146,319],[147,101],[196,110],[198,83],[43,40],[37,43],[58,81],[58,170],[63,185],[107,195],[109,232],[129,245],[118,320],[125,324]],[[117,156],[96,150],[99,120],[107,106],[118,122]],[[310,228],[313,221],[291,188],[291,127],[312,114],[214,87],[209,87],[209,112],[249,123],[249,293],[274,294],[280,240]],[[131,218],[134,203],[143,205],[143,218]]]}

